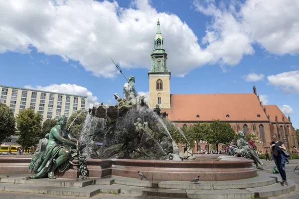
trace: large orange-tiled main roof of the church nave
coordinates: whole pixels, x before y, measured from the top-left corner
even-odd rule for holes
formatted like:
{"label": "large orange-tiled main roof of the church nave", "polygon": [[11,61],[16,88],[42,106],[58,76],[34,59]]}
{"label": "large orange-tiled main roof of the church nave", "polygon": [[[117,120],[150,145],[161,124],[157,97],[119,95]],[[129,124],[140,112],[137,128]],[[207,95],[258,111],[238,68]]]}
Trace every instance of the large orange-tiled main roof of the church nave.
{"label": "large orange-tiled main roof of the church nave", "polygon": [[170,98],[171,108],[161,108],[170,121],[269,121],[255,94],[189,94]]}

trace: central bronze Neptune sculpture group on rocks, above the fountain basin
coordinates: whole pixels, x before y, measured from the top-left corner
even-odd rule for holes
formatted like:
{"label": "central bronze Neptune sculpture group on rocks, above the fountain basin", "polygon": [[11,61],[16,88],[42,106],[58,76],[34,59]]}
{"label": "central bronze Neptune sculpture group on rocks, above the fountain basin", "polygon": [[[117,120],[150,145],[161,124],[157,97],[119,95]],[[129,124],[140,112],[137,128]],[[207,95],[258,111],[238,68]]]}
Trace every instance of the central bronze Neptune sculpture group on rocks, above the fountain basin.
{"label": "central bronze Neptune sculpture group on rocks, above the fountain basin", "polygon": [[[172,153],[172,138],[163,124],[159,108],[152,109],[147,96],[135,91],[135,78],[125,83],[121,98],[114,94],[116,105],[95,103],[87,117],[98,119],[91,137],[91,158],[166,160]],[[87,137],[87,136],[83,136]],[[86,139],[85,139],[86,140]]]}

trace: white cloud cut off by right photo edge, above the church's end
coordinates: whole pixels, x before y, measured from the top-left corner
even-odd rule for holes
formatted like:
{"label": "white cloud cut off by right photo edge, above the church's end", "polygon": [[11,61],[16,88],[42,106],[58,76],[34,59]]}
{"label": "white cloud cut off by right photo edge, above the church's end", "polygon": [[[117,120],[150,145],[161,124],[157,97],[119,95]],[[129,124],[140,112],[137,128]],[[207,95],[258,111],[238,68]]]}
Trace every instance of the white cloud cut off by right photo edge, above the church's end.
{"label": "white cloud cut off by right photo edge, above the church's end", "polygon": [[299,70],[270,75],[268,85],[281,88],[284,93],[299,93]]}

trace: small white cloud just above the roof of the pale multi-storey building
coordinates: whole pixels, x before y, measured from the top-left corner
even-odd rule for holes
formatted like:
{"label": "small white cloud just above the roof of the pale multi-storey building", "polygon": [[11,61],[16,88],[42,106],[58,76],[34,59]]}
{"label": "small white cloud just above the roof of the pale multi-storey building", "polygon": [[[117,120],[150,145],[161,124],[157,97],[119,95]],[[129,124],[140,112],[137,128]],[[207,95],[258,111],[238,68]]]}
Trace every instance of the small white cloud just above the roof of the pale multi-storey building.
{"label": "small white cloud just above the roof of the pale multi-storey building", "polygon": [[87,96],[88,103],[94,103],[98,100],[96,96],[92,95],[92,92],[88,91],[87,88],[77,86],[75,84],[51,84],[50,86],[42,87],[36,86],[31,87],[30,85],[25,86],[26,89],[35,89],[40,91],[49,91],[54,93],[63,93],[63,94],[70,94],[70,95],[77,95],[77,96]]}

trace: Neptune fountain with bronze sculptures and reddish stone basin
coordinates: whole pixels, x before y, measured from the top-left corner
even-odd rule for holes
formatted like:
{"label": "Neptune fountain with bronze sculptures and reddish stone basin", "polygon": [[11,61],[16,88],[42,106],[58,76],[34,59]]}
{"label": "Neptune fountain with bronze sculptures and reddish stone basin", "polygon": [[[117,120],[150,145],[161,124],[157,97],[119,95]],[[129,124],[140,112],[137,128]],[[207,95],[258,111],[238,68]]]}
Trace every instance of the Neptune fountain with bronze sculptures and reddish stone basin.
{"label": "Neptune fountain with bronze sculptures and reddish stone basin", "polygon": [[[124,97],[114,94],[116,105],[94,103],[88,110],[78,140],[72,138],[68,129],[64,128],[65,116],[61,116],[59,125],[52,130],[65,132],[62,134],[65,134],[69,141],[62,138],[59,140],[62,144],[71,145],[70,149],[65,149],[68,156],[59,152],[51,158],[51,154],[57,154],[55,151],[58,151],[58,148],[54,148],[52,153],[52,148],[47,147],[46,152],[32,158],[29,168],[33,175],[26,179],[42,178],[48,171],[52,171],[49,178],[68,176],[82,179],[86,179],[87,175],[135,178],[136,171],[146,172],[152,180],[185,181],[198,173],[201,173],[203,181],[238,180],[257,176],[252,160],[236,157],[232,159],[227,156],[194,160],[190,148],[185,154],[181,154],[167,126],[173,125],[172,128],[176,127],[180,133],[182,131],[163,118],[166,113],[161,113],[158,105],[155,108],[150,107],[146,95],[137,94],[134,76],[130,76],[127,81],[123,89]],[[183,133],[182,136],[184,137]],[[64,147],[62,144],[61,147]],[[87,149],[84,150],[87,159],[83,156],[84,153],[82,154],[84,146]],[[193,161],[182,161],[192,159]],[[54,174],[54,169],[60,164],[64,165],[63,162],[67,167],[70,166],[69,169],[59,170],[62,172],[60,174],[55,171]],[[40,164],[45,166],[39,166]]]}

